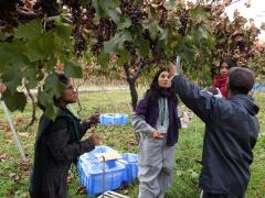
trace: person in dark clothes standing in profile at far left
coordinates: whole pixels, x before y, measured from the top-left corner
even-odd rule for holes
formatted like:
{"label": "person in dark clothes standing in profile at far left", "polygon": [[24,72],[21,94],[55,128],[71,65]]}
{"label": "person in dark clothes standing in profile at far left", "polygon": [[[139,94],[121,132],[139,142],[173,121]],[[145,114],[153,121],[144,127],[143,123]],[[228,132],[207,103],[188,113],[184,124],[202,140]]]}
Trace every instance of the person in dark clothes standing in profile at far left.
{"label": "person in dark clothes standing in profile at far left", "polygon": [[54,97],[54,103],[59,108],[55,120],[49,119],[44,113],[40,119],[30,182],[32,198],[66,198],[66,179],[71,164],[98,144],[97,135],[81,141],[86,130],[98,122],[98,114],[81,123],[66,108],[77,100],[71,80],[64,75],[56,76],[65,89],[59,98]]}

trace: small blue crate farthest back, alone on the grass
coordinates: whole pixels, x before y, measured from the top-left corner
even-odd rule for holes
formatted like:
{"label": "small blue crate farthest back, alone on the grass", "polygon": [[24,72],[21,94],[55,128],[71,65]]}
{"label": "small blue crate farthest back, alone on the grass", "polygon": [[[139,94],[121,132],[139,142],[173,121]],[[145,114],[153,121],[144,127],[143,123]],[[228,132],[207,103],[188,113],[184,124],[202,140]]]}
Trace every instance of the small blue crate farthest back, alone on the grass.
{"label": "small blue crate farthest back, alone on the grass", "polygon": [[99,122],[106,125],[120,125],[128,122],[128,114],[105,113],[99,116]]}

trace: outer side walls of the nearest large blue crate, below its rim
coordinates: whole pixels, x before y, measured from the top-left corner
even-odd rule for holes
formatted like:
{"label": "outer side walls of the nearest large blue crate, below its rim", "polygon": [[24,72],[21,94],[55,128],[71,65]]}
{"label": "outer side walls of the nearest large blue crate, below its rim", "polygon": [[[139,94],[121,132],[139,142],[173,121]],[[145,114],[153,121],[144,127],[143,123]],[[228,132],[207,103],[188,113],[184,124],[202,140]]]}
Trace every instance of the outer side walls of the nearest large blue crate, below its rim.
{"label": "outer side walls of the nearest large blue crate, below its rim", "polygon": [[[110,165],[109,165],[110,163]],[[123,186],[126,175],[126,166],[120,162],[105,162],[104,190],[114,190]],[[81,184],[86,187],[89,196],[103,193],[103,162],[84,163],[81,166]]]}

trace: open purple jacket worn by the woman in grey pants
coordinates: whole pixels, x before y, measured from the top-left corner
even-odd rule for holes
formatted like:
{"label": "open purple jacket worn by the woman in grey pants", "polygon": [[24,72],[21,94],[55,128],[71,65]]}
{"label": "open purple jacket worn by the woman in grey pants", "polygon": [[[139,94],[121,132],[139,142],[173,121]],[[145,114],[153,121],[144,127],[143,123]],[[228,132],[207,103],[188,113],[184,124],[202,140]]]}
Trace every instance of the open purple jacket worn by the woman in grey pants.
{"label": "open purple jacket worn by the woman in grey pants", "polygon": [[[168,98],[168,110],[169,128],[167,145],[173,146],[179,139],[180,120],[178,118],[177,103],[170,98]],[[150,101],[149,97],[145,97],[137,105],[135,112],[138,116],[144,116],[146,118],[146,122],[155,128],[159,116],[158,100],[153,103]]]}

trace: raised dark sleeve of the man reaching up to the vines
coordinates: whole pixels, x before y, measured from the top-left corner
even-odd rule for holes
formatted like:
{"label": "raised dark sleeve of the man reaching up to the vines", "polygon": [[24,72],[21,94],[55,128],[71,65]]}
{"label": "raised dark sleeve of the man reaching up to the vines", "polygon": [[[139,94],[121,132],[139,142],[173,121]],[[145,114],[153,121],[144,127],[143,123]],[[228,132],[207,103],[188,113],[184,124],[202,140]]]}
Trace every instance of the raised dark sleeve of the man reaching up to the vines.
{"label": "raised dark sleeve of the man reaching up to the vines", "polygon": [[191,109],[203,122],[210,122],[213,114],[213,105],[219,100],[198,86],[189,82],[183,76],[174,76],[172,86],[176,88],[181,101]]}

